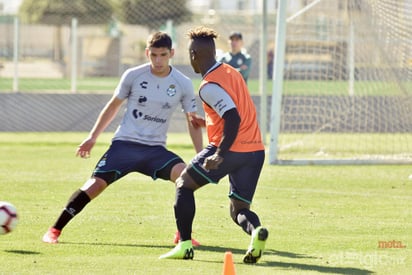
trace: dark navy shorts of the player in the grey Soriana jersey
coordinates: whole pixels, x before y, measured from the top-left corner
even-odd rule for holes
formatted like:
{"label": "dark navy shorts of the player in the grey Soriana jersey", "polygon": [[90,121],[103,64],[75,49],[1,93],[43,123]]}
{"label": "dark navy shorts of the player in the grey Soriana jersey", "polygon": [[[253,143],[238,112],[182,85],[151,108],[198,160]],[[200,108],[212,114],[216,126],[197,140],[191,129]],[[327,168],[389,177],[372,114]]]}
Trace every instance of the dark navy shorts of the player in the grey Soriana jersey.
{"label": "dark navy shorts of the player in the grey Soriana jersey", "polygon": [[184,161],[163,146],[149,146],[130,141],[113,141],[93,171],[93,176],[110,184],[130,172],[170,180],[170,172]]}

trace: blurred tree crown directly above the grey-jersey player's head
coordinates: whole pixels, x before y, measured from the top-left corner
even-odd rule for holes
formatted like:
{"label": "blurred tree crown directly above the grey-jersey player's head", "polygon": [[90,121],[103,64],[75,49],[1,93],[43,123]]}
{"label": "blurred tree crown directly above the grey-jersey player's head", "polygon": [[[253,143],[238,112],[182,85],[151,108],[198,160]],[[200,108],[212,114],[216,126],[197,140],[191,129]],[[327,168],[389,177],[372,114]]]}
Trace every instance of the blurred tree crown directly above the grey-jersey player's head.
{"label": "blurred tree crown directly above the grey-jersey player's head", "polygon": [[192,13],[186,2],[187,0],[122,0],[119,17],[127,24],[158,30],[168,20],[172,20],[175,25],[189,21]]}

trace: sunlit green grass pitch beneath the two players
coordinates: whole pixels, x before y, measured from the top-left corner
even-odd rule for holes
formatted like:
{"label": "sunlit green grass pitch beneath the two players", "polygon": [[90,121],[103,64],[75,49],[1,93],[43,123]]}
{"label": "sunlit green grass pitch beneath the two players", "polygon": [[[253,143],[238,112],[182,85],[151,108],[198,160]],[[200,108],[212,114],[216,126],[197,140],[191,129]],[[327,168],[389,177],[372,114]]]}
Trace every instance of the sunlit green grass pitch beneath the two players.
{"label": "sunlit green grass pitch beneath the two players", "polygon": [[[71,193],[107,148],[105,133],[87,160],[75,149],[86,133],[0,133],[0,200],[19,210],[0,236],[0,274],[221,274],[232,251],[237,274],[410,274],[410,166],[265,165],[255,209],[270,230],[260,263],[245,265],[249,236],[228,215],[228,181],[195,194],[193,261],[158,260],[173,247],[174,187],[132,174],[91,202],[61,243],[40,241]],[[189,161],[186,136],[170,148]],[[403,248],[379,248],[379,243]]]}

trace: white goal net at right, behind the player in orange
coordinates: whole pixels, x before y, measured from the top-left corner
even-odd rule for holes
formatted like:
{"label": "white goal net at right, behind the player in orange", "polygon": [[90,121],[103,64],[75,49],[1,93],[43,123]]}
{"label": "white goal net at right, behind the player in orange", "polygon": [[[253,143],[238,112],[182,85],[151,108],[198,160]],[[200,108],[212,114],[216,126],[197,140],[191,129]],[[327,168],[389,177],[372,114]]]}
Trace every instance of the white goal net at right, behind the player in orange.
{"label": "white goal net at right, behind the player in orange", "polygon": [[270,162],[412,163],[412,2],[287,2]]}

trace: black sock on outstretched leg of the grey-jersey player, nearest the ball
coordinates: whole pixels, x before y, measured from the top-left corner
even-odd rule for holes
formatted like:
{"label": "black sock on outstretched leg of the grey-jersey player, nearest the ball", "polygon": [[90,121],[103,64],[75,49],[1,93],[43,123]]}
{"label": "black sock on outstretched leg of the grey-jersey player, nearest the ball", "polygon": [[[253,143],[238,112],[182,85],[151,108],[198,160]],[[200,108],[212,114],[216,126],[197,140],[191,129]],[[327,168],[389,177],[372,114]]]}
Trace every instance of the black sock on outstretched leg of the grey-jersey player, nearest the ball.
{"label": "black sock on outstretched leg of the grey-jersey player, nearest the ball", "polygon": [[89,196],[82,190],[77,190],[70,197],[53,228],[62,230],[63,227],[90,202]]}

